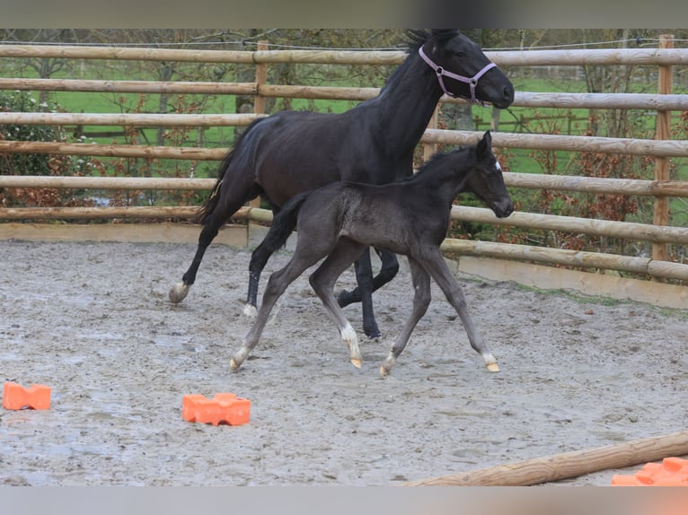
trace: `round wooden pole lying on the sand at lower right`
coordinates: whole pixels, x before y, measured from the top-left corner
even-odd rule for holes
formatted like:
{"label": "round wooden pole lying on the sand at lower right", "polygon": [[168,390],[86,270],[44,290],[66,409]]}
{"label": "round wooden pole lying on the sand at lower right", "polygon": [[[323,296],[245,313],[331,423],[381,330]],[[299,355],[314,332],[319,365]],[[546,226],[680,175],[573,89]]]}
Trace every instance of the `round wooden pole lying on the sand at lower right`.
{"label": "round wooden pole lying on the sand at lower right", "polygon": [[421,479],[403,485],[528,486],[684,455],[688,455],[688,431],[480,468],[450,476]]}

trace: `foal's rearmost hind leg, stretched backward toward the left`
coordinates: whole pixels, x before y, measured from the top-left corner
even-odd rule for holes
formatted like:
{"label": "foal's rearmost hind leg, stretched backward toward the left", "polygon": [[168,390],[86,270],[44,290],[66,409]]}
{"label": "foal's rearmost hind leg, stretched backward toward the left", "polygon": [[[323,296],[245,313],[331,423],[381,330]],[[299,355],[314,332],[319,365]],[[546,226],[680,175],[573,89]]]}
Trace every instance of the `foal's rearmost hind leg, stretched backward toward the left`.
{"label": "foal's rearmost hind leg, stretched backward toward the left", "polygon": [[287,286],[292,284],[296,277],[301,275],[306,268],[313,266],[326,254],[327,252],[311,253],[309,246],[304,245],[304,247],[295,250],[295,254],[289,260],[287,266],[270,275],[268,285],[265,288],[265,292],[263,292],[263,298],[260,303],[260,310],[258,310],[256,321],[253,323],[253,327],[251,327],[249,333],[243,338],[241,348],[234,354],[230,361],[232,371],[236,371],[242,366],[242,363],[258,344],[263,328],[268,322],[270,311],[275,306],[275,303],[282,293],[285,292]]}

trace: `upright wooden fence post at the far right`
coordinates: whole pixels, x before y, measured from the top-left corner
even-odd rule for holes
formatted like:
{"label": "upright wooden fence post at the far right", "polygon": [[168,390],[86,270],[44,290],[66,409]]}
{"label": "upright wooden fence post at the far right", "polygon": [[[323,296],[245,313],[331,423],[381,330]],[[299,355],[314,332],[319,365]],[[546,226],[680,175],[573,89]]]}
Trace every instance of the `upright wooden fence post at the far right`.
{"label": "upright wooden fence post at the far right", "polygon": [[[674,48],[674,36],[662,34],[659,36],[659,48]],[[671,65],[659,66],[659,94],[670,94],[673,82],[673,68]],[[657,140],[666,140],[671,137],[671,111],[657,111]],[[669,180],[669,158],[657,157],[655,161],[655,179]],[[654,210],[654,224],[669,224],[669,197],[656,196]],[[654,243],[652,245],[652,258],[666,261],[668,258],[666,243]]]}

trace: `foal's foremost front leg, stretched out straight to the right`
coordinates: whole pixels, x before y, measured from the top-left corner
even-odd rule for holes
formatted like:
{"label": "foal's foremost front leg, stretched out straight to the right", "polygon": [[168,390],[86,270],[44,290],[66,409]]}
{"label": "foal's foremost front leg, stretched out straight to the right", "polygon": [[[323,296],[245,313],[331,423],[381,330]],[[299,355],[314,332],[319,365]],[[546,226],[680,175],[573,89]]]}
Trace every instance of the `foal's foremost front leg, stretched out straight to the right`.
{"label": "foal's foremost front leg, stretched out straight to the right", "polygon": [[428,249],[423,258],[419,258],[419,263],[428,270],[429,274],[432,275],[432,278],[435,279],[442,289],[442,292],[445,293],[446,300],[454,306],[454,310],[456,310],[463,323],[463,328],[466,330],[468,341],[471,342],[472,348],[478,354],[481,354],[489,371],[498,372],[499,367],[497,360],[492,353],[490,353],[490,349],[488,349],[488,346],[482,341],[481,336],[473,325],[471,316],[468,314],[466,300],[463,297],[461,286],[456,282],[449,267],[446,266],[445,259],[442,258],[439,249],[433,248],[431,251]]}

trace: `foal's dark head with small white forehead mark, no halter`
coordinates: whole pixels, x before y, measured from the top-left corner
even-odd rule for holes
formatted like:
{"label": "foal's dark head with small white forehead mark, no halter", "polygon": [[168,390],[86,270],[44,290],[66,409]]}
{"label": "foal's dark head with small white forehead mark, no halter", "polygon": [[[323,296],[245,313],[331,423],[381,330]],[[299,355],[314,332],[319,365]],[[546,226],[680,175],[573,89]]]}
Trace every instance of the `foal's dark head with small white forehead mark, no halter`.
{"label": "foal's dark head with small white forehead mark, no halter", "polygon": [[514,203],[504,184],[499,161],[492,153],[492,136],[487,131],[475,146],[475,165],[466,179],[466,191],[487,204],[498,218],[506,218],[514,212]]}

